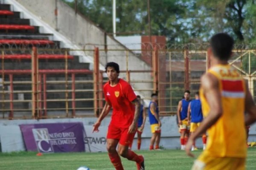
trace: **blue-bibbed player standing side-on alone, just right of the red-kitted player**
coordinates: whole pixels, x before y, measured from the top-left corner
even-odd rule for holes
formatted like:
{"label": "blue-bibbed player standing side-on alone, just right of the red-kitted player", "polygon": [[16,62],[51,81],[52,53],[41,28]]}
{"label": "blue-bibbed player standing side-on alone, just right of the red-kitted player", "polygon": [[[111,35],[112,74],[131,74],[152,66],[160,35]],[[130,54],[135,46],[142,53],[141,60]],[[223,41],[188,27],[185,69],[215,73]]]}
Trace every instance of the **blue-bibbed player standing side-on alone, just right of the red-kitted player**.
{"label": "blue-bibbed player standing side-on alone, just right of the red-kitted player", "polygon": [[154,149],[154,143],[156,142],[155,149],[159,150],[160,136],[161,136],[161,122],[159,119],[159,110],[157,106],[157,94],[151,94],[151,102],[148,106],[148,118],[151,127],[152,137],[150,140],[149,150]]}

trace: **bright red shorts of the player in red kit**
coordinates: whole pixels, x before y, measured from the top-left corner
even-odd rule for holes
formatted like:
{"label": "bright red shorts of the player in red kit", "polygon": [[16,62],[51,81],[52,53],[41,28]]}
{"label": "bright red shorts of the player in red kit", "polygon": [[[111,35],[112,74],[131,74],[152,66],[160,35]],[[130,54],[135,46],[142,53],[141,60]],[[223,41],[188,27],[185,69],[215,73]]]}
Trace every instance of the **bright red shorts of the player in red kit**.
{"label": "bright red shorts of the player in red kit", "polygon": [[107,139],[118,139],[119,144],[129,146],[134,139],[135,133],[128,133],[128,129],[109,125]]}

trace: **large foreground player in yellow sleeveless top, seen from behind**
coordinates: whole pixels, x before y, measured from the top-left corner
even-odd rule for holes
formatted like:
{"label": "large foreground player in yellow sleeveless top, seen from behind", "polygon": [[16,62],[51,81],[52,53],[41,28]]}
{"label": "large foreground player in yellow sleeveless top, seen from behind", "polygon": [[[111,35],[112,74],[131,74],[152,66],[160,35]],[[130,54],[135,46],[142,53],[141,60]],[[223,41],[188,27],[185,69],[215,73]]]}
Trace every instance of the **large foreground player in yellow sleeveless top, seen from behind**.
{"label": "large foreground player in yellow sleeveless top, seen from behind", "polygon": [[[244,79],[228,64],[233,38],[215,34],[208,54],[212,67],[201,77],[200,99],[204,120],[186,145],[191,153],[193,141],[208,132],[206,150],[192,170],[244,170],[247,155],[245,125],[256,121],[256,107]],[[244,112],[248,113],[244,117]]]}

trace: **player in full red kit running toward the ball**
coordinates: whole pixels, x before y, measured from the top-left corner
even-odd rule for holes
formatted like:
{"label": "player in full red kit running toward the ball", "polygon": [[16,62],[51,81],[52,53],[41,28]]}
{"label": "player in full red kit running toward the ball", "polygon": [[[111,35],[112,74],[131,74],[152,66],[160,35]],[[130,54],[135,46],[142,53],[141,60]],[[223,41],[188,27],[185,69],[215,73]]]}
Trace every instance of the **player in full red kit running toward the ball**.
{"label": "player in full red kit running toward the ball", "polygon": [[137,130],[140,102],[131,85],[118,78],[120,72],[118,64],[108,62],[105,69],[109,79],[103,88],[106,103],[97,122],[93,125],[93,132],[99,131],[101,121],[113,108],[107,134],[108,156],[113,166],[116,170],[124,170],[120,159],[122,156],[130,161],[135,161],[137,170],[145,170],[143,156],[138,156],[128,149]]}

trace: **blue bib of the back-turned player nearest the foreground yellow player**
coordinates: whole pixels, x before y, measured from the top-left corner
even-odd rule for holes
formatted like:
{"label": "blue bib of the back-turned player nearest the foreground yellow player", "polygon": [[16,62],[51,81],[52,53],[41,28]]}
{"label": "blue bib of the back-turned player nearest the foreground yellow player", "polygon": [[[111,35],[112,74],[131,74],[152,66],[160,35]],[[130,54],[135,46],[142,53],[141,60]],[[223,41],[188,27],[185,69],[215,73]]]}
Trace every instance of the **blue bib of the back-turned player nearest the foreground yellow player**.
{"label": "blue bib of the back-turned player nearest the foreground yellow player", "polygon": [[192,100],[190,103],[191,122],[198,123],[203,120],[203,113],[201,108],[201,101],[199,99]]}

